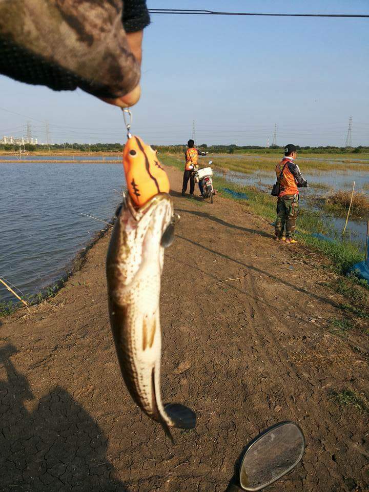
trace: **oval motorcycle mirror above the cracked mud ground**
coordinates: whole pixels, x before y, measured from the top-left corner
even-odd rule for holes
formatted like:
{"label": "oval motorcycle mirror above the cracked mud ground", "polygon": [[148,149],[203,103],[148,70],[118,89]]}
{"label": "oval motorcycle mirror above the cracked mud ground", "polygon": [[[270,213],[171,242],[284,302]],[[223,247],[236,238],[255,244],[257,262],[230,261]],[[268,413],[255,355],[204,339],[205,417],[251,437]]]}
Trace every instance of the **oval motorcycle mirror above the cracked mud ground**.
{"label": "oval motorcycle mirror above the cracked mud ground", "polygon": [[294,422],[280,422],[256,437],[243,456],[239,481],[243,490],[256,492],[286,473],[301,460],[305,438]]}

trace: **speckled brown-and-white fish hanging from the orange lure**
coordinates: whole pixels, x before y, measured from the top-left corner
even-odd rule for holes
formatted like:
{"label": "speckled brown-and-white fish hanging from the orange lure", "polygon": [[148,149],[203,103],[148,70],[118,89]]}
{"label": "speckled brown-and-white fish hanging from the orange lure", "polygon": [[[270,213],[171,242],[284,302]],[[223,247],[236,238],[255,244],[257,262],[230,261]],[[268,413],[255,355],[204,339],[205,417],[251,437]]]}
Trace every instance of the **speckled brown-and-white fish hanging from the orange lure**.
{"label": "speckled brown-and-white fish hanging from the orange lure", "polygon": [[172,442],[171,427],[196,426],[195,412],[180,403],[164,405],[160,392],[160,283],[174,222],[168,193],[156,193],[141,207],[128,194],[117,211],[106,263],[109,317],[122,377],[134,402]]}

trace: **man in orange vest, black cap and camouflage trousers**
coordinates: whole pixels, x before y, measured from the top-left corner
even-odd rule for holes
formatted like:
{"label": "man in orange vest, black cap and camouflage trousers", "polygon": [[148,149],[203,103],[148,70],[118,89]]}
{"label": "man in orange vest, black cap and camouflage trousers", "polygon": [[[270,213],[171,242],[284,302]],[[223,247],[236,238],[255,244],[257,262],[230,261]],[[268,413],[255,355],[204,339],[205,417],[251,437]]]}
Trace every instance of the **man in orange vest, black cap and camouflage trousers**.
{"label": "man in orange vest, black cap and camouflage trousers", "polygon": [[279,241],[283,238],[285,228],[286,244],[296,243],[293,238],[296,228],[296,219],[299,214],[298,188],[308,186],[294,159],[297,149],[294,145],[285,146],[284,157],[276,166],[277,181],[279,183],[279,194],[277,201],[277,219],[275,222],[275,238]]}

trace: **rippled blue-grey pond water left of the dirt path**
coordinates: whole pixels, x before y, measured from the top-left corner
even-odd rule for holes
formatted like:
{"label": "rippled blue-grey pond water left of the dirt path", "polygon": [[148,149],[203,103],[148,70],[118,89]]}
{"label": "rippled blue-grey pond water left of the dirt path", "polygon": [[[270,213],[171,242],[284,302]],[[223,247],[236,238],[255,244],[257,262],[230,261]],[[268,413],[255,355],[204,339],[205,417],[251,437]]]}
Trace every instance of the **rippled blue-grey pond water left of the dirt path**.
{"label": "rippled blue-grey pond water left of the dirt path", "polygon": [[[0,162],[0,173],[0,276],[32,295],[68,271],[77,251],[105,227],[81,213],[113,217],[123,167]],[[0,285],[0,300],[10,299]]]}

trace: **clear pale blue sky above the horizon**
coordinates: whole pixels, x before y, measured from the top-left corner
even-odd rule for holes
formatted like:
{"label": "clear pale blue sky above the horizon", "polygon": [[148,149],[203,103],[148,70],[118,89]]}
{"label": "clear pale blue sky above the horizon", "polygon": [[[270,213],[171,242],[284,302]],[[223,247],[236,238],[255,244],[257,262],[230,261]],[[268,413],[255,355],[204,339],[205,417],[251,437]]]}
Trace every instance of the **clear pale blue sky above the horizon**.
{"label": "clear pale blue sky above the horizon", "polygon": [[[323,4],[323,5],[322,5]],[[369,13],[367,0],[263,2],[148,0],[156,8],[282,13]],[[150,144],[369,145],[369,18],[152,15],[146,29],[142,98],[133,131]],[[53,92],[0,76],[2,108],[26,115],[54,142],[125,138],[119,109],[83,91]],[[0,135],[21,135],[28,118],[0,110]],[[39,120],[39,121],[36,121]],[[56,126],[57,125],[57,126]]]}

